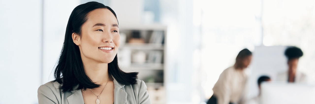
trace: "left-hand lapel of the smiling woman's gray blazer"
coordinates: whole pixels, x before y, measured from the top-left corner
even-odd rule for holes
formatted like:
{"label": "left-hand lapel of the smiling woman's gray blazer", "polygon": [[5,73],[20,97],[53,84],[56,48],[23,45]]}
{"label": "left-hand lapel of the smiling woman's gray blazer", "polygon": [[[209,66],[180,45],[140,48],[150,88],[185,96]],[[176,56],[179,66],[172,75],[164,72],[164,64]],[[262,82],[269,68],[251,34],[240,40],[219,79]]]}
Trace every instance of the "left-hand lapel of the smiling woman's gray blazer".
{"label": "left-hand lapel of the smiling woman's gray blazer", "polygon": [[81,90],[73,90],[71,92],[72,95],[67,97],[69,104],[84,104]]}

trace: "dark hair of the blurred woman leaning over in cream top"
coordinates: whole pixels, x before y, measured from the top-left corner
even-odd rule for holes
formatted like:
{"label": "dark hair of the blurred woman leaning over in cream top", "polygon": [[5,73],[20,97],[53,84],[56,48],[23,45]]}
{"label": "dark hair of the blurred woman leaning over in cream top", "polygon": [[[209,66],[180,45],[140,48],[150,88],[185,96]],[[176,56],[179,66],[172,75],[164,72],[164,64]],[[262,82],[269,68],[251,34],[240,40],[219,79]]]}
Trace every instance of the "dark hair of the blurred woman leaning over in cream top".
{"label": "dark hair of the blurred woman leaning over in cream top", "polygon": [[252,52],[250,52],[247,48],[241,50],[236,56],[235,68],[242,68],[243,60],[250,55],[252,55]]}

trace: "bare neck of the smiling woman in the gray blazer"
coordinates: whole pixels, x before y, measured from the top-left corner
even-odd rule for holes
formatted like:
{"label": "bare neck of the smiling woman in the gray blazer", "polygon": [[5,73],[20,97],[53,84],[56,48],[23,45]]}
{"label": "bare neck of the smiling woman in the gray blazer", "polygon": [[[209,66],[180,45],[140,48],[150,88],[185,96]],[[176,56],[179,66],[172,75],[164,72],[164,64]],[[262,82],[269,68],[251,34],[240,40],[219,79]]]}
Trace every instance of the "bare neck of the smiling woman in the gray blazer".
{"label": "bare neck of the smiling woman in the gray blazer", "polygon": [[86,75],[96,84],[106,84],[108,74],[108,63],[95,62],[89,59],[82,59]]}

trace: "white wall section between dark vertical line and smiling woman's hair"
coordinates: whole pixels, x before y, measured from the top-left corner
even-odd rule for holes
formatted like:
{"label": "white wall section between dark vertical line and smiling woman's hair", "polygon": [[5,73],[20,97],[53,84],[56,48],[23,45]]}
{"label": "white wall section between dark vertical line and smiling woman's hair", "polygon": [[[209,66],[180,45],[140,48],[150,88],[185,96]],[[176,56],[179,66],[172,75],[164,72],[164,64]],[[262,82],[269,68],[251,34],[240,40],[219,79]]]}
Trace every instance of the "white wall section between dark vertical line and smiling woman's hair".
{"label": "white wall section between dark vertical line and smiling woman's hair", "polygon": [[80,0],[45,0],[43,36],[43,82],[54,80],[54,66],[65,39],[66,27],[72,10]]}

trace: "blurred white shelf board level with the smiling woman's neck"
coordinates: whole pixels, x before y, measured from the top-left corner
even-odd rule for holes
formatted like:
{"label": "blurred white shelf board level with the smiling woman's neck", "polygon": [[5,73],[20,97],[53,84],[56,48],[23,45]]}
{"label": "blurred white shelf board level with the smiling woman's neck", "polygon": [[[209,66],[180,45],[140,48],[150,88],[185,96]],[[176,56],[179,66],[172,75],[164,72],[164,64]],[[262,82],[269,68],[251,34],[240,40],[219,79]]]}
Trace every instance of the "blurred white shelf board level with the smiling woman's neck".
{"label": "blurred white shelf board level with the smiling woman's neck", "polygon": [[164,66],[161,63],[132,63],[130,66],[121,66],[124,70],[163,70]]}

